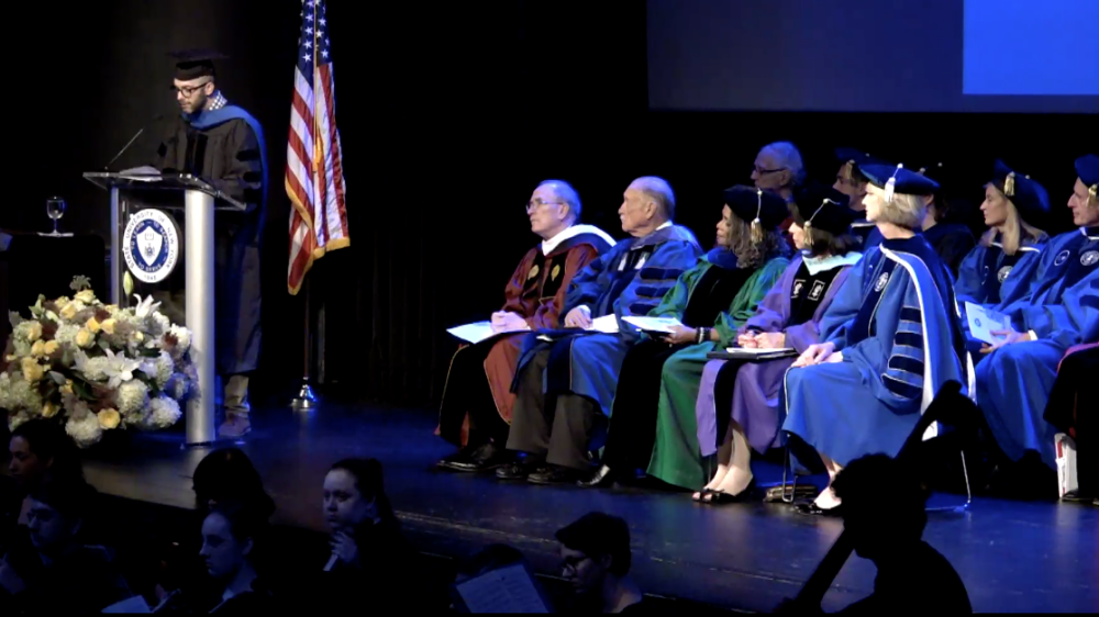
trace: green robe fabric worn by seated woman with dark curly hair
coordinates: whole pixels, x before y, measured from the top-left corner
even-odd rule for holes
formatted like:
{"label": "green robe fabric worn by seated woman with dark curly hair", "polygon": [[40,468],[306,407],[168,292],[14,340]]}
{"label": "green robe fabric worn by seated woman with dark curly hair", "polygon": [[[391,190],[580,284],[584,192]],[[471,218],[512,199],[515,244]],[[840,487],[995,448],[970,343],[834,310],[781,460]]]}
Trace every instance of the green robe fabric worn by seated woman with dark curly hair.
{"label": "green robe fabric worn by seated woman with dark curly hair", "polygon": [[[664,363],[660,377],[660,403],[656,419],[656,446],[648,463],[648,474],[692,491],[701,490],[712,475],[714,457],[703,458],[698,446],[695,401],[706,367],[707,354],[730,347],[736,340],[736,329],[755,314],[756,305],[782,277],[790,260],[775,257],[764,263],[741,287],[729,310],[713,324],[720,340],[685,347]],[[681,317],[695,285],[712,265],[704,257],[671,288],[650,316]]]}

